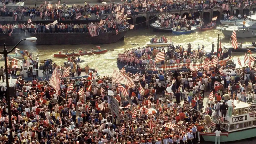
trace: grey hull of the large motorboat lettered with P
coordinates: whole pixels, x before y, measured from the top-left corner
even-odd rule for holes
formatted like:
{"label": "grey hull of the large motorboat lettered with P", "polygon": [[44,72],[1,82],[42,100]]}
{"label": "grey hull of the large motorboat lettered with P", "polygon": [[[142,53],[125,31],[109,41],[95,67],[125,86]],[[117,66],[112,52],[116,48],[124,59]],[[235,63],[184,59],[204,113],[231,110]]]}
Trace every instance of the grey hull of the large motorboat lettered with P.
{"label": "grey hull of the large motorboat lettered with P", "polygon": [[[230,30],[222,30],[221,31],[225,37],[230,38],[233,31]],[[255,30],[240,30],[236,31],[236,37],[237,38],[250,38],[250,37],[256,37],[256,31]]]}

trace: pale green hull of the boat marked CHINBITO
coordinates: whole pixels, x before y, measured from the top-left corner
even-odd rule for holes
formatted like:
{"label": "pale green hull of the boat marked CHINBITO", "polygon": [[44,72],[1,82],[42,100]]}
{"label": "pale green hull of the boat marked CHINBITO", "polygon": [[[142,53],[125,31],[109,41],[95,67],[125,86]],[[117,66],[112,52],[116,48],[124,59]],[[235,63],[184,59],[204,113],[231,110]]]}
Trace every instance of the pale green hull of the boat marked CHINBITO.
{"label": "pale green hull of the boat marked CHINBITO", "polygon": [[[202,135],[202,134],[201,134]],[[205,141],[215,142],[215,135],[202,135]],[[230,132],[228,136],[221,135],[220,142],[230,142],[256,137],[256,129],[247,129],[236,132]]]}

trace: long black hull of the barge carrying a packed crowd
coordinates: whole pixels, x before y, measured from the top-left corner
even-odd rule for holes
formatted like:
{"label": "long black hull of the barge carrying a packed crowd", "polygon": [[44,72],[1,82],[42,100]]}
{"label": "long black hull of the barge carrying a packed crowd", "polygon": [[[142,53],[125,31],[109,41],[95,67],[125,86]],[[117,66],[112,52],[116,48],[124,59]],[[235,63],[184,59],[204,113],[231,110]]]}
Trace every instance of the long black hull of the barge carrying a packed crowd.
{"label": "long black hull of the barge carrying a packed crowd", "polygon": [[[13,45],[18,43],[20,38],[37,37],[36,45],[51,45],[51,44],[110,44],[118,41],[124,41],[124,36],[128,29],[112,32],[100,33],[100,36],[92,37],[90,33],[40,33],[24,35],[24,33],[9,36],[8,34],[0,34],[0,44]],[[20,38],[16,38],[20,37]],[[20,45],[28,44],[26,41]]]}

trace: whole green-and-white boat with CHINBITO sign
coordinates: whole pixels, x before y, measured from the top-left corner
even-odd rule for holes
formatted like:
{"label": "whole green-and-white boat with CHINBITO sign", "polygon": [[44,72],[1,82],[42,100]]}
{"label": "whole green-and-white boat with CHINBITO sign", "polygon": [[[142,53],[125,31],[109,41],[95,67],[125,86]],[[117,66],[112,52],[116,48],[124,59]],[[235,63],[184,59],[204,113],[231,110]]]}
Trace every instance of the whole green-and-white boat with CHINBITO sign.
{"label": "whole green-and-white boat with CHINBITO sign", "polygon": [[[231,142],[256,137],[256,105],[234,100],[232,116],[218,117],[211,123],[211,132],[200,132],[205,141],[215,142],[216,127],[222,129],[220,142]],[[221,114],[219,113],[219,116]]]}

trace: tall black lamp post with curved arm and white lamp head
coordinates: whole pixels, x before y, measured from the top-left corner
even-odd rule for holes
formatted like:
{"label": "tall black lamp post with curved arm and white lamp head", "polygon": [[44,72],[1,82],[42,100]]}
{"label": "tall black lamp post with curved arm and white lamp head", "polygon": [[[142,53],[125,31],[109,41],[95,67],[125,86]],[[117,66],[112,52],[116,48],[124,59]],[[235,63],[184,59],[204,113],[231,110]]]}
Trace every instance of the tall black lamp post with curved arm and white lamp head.
{"label": "tall black lamp post with curved arm and white lamp head", "polygon": [[0,52],[0,54],[4,55],[4,64],[5,64],[5,76],[6,76],[6,99],[7,99],[7,109],[8,109],[8,117],[9,117],[9,133],[10,133],[10,142],[12,143],[12,116],[11,116],[11,101],[9,95],[9,80],[8,80],[8,67],[7,67],[7,55],[11,53],[18,44],[22,41],[30,41],[35,42],[37,40],[36,37],[30,37],[20,40],[10,51],[6,50],[6,44],[4,44],[4,51]]}

